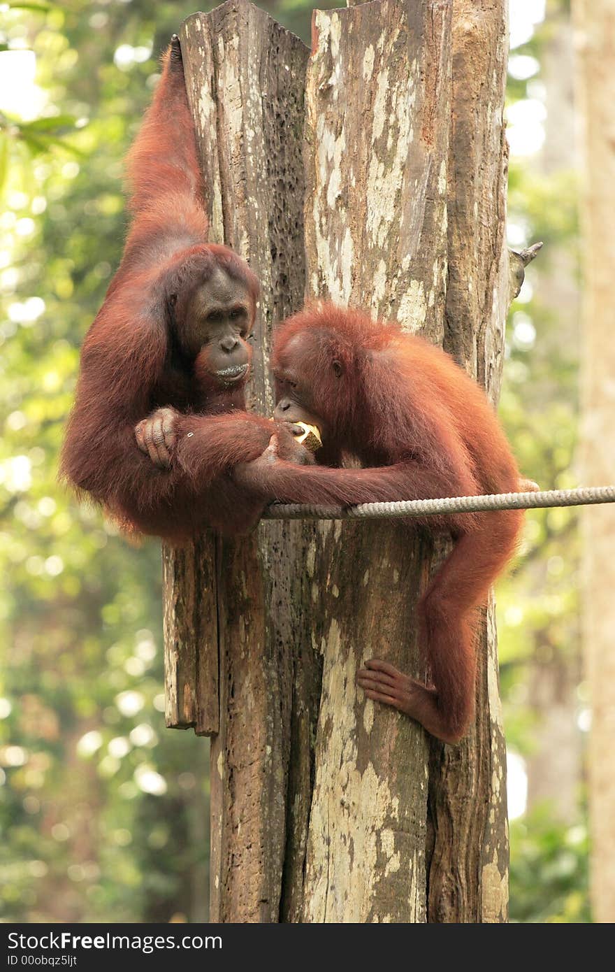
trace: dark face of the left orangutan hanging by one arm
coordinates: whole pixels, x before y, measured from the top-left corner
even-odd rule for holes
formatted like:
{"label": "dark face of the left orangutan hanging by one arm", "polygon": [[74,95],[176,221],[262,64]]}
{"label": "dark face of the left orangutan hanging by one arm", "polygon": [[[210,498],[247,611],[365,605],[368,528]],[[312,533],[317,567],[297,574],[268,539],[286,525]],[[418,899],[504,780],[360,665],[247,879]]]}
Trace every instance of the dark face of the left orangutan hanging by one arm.
{"label": "dark face of the left orangutan hanging by one arm", "polygon": [[194,362],[200,383],[214,388],[240,384],[248,375],[253,324],[250,295],[241,280],[218,267],[195,288],[184,306],[173,302],[182,350]]}

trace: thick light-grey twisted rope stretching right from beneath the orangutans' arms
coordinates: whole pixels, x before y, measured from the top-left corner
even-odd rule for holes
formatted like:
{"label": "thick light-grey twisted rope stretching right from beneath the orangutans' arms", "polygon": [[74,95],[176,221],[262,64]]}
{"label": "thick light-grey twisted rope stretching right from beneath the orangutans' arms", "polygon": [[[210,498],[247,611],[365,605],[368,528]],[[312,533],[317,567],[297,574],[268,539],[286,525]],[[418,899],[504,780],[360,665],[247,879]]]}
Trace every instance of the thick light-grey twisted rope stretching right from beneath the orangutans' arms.
{"label": "thick light-grey twisted rope stretching right from beneath the orangutans' arms", "polygon": [[552,489],[541,493],[454,496],[441,500],[400,500],[396,503],[359,503],[357,506],[271,503],[262,515],[265,520],[388,520],[399,516],[436,516],[493,509],[545,509],[548,506],[585,506],[590,503],[615,503],[615,486]]}

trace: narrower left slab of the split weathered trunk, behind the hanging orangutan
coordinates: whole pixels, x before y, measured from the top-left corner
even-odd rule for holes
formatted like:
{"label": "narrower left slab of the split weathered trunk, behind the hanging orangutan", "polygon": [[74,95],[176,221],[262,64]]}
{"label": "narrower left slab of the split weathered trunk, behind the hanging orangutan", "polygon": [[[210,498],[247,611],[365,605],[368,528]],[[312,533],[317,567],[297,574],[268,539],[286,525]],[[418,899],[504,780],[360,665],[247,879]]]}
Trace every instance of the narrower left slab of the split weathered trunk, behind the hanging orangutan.
{"label": "narrower left slab of the split weathered trunk, behind the hanging orangutan", "polygon": [[[209,190],[211,239],[248,260],[262,288],[250,406],[271,414],[271,324],[301,305],[305,287],[301,132],[308,52],[245,2],[190,17],[181,41]],[[197,716],[209,707],[207,693],[215,697],[219,691],[220,726],[215,718],[203,726],[219,728],[211,750],[212,920],[279,920],[288,866],[290,735],[297,737],[294,751],[303,746],[309,759],[310,720],[316,717],[302,690],[313,680],[302,674],[313,654],[309,630],[298,617],[302,534],[300,524],[267,524],[245,539],[209,538],[195,547],[180,581],[191,591],[200,573],[215,589],[210,633],[185,652],[201,676],[194,693]],[[166,556],[175,565],[167,573],[177,582],[182,558]],[[194,603],[191,594],[187,600]],[[298,727],[291,718],[293,698]],[[308,805],[305,816],[307,811]]]}

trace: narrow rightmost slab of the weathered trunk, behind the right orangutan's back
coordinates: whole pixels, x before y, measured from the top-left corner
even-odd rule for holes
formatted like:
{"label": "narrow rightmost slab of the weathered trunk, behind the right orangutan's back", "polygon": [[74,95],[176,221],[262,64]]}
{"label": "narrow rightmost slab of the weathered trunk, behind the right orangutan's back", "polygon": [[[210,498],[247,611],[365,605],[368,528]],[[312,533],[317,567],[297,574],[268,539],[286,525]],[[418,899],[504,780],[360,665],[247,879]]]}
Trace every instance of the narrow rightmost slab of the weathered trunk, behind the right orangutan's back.
{"label": "narrow rightmost slab of the weathered trunk, behind the right orangutan's back", "polygon": [[[506,314],[514,295],[505,246],[506,0],[455,0],[451,45],[443,344],[484,385],[495,405]],[[514,267],[514,258],[511,262]],[[430,921],[508,920],[506,750],[493,599],[478,632],[477,650],[474,730],[460,746],[431,744]]]}

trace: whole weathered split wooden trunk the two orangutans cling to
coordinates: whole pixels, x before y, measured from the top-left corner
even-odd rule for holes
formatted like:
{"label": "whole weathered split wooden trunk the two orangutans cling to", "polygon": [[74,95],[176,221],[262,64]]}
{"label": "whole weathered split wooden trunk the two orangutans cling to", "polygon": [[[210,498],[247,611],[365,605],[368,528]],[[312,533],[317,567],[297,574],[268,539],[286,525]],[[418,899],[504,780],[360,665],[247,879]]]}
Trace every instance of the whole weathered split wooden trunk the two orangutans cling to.
{"label": "whole weathered split wooden trunk the two orangutans cling to", "polygon": [[[311,56],[246,0],[184,25],[212,239],[262,285],[250,398],[265,414],[271,325],[304,295],[444,342],[495,396],[505,5],[459,6],[462,22],[449,0],[317,12]],[[489,73],[457,93],[470,64]],[[493,624],[459,747],[355,685],[373,654],[423,675],[415,608],[444,551],[373,522],[165,550],[168,723],[215,734],[212,920],[505,920]]]}

